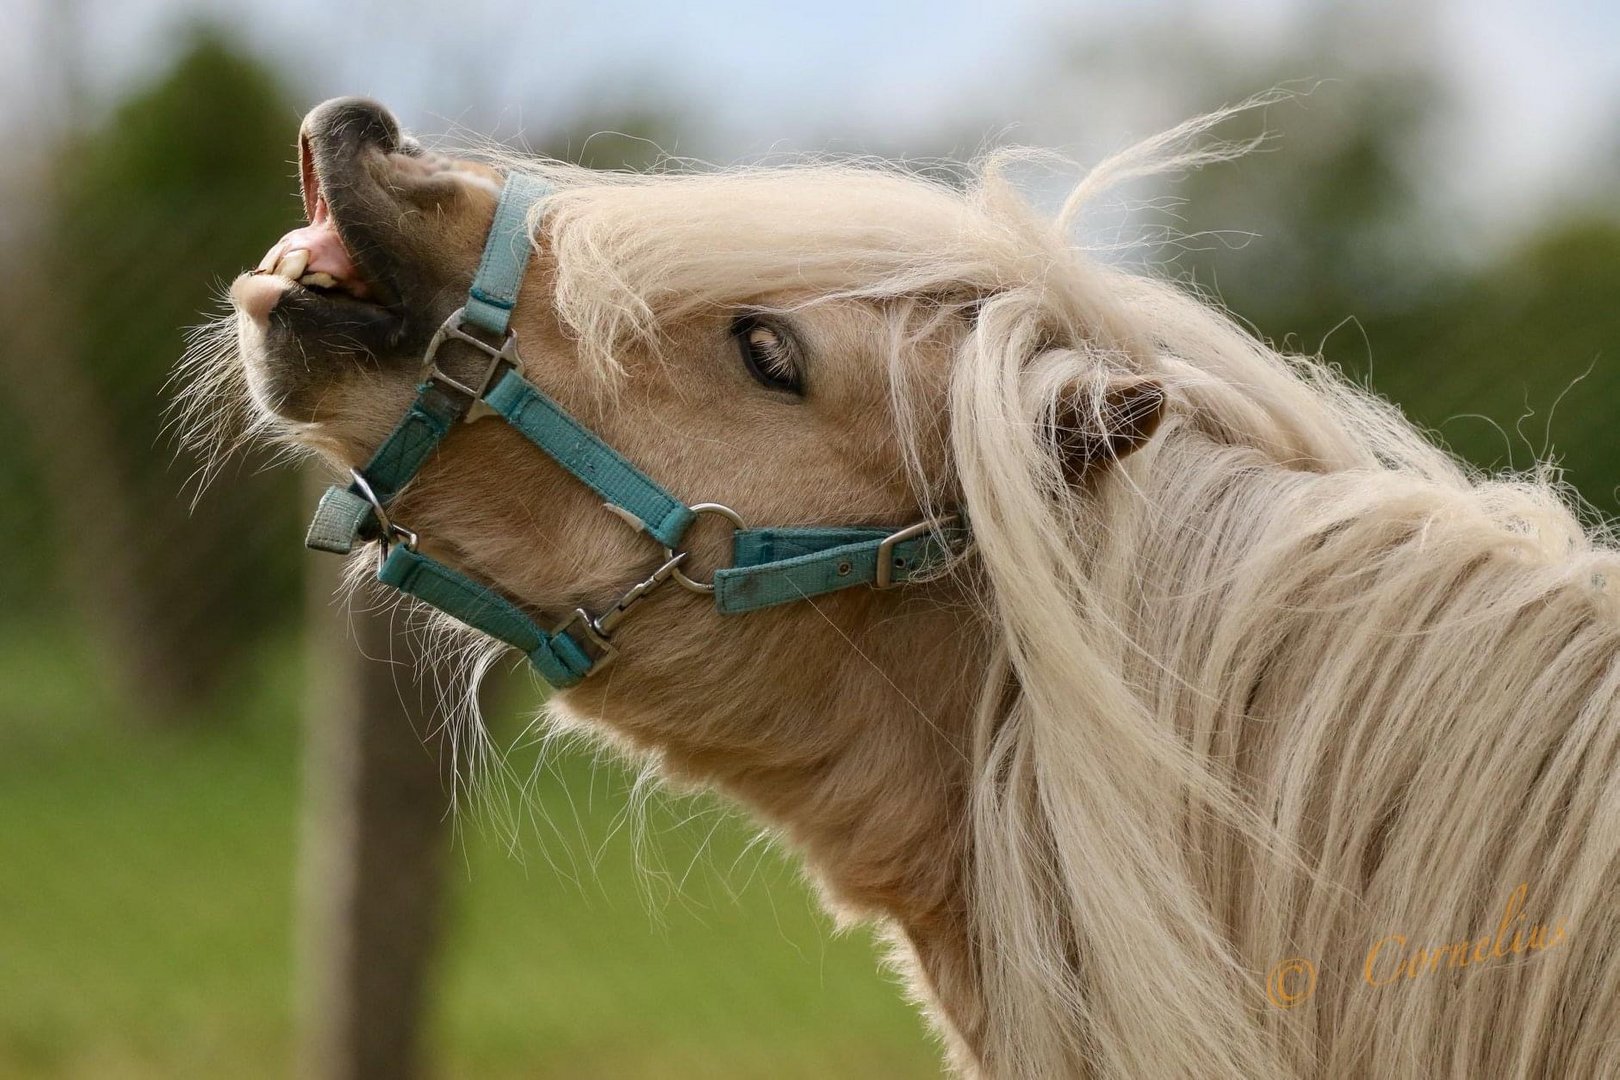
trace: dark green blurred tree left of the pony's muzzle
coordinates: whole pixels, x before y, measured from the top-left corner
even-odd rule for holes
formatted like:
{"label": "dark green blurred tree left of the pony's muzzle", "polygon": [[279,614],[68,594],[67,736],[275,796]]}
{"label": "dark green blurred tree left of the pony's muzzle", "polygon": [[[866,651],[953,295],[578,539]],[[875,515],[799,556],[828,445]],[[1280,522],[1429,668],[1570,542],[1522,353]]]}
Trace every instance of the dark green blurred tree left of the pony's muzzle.
{"label": "dark green blurred tree left of the pony's muzzle", "polygon": [[8,272],[6,382],[57,570],[131,709],[152,717],[225,680],[296,593],[292,478],[249,474],[249,460],[191,513],[198,461],[164,432],[165,382],[211,282],[295,220],[292,115],[261,66],[196,31],[162,78],[65,139]]}

